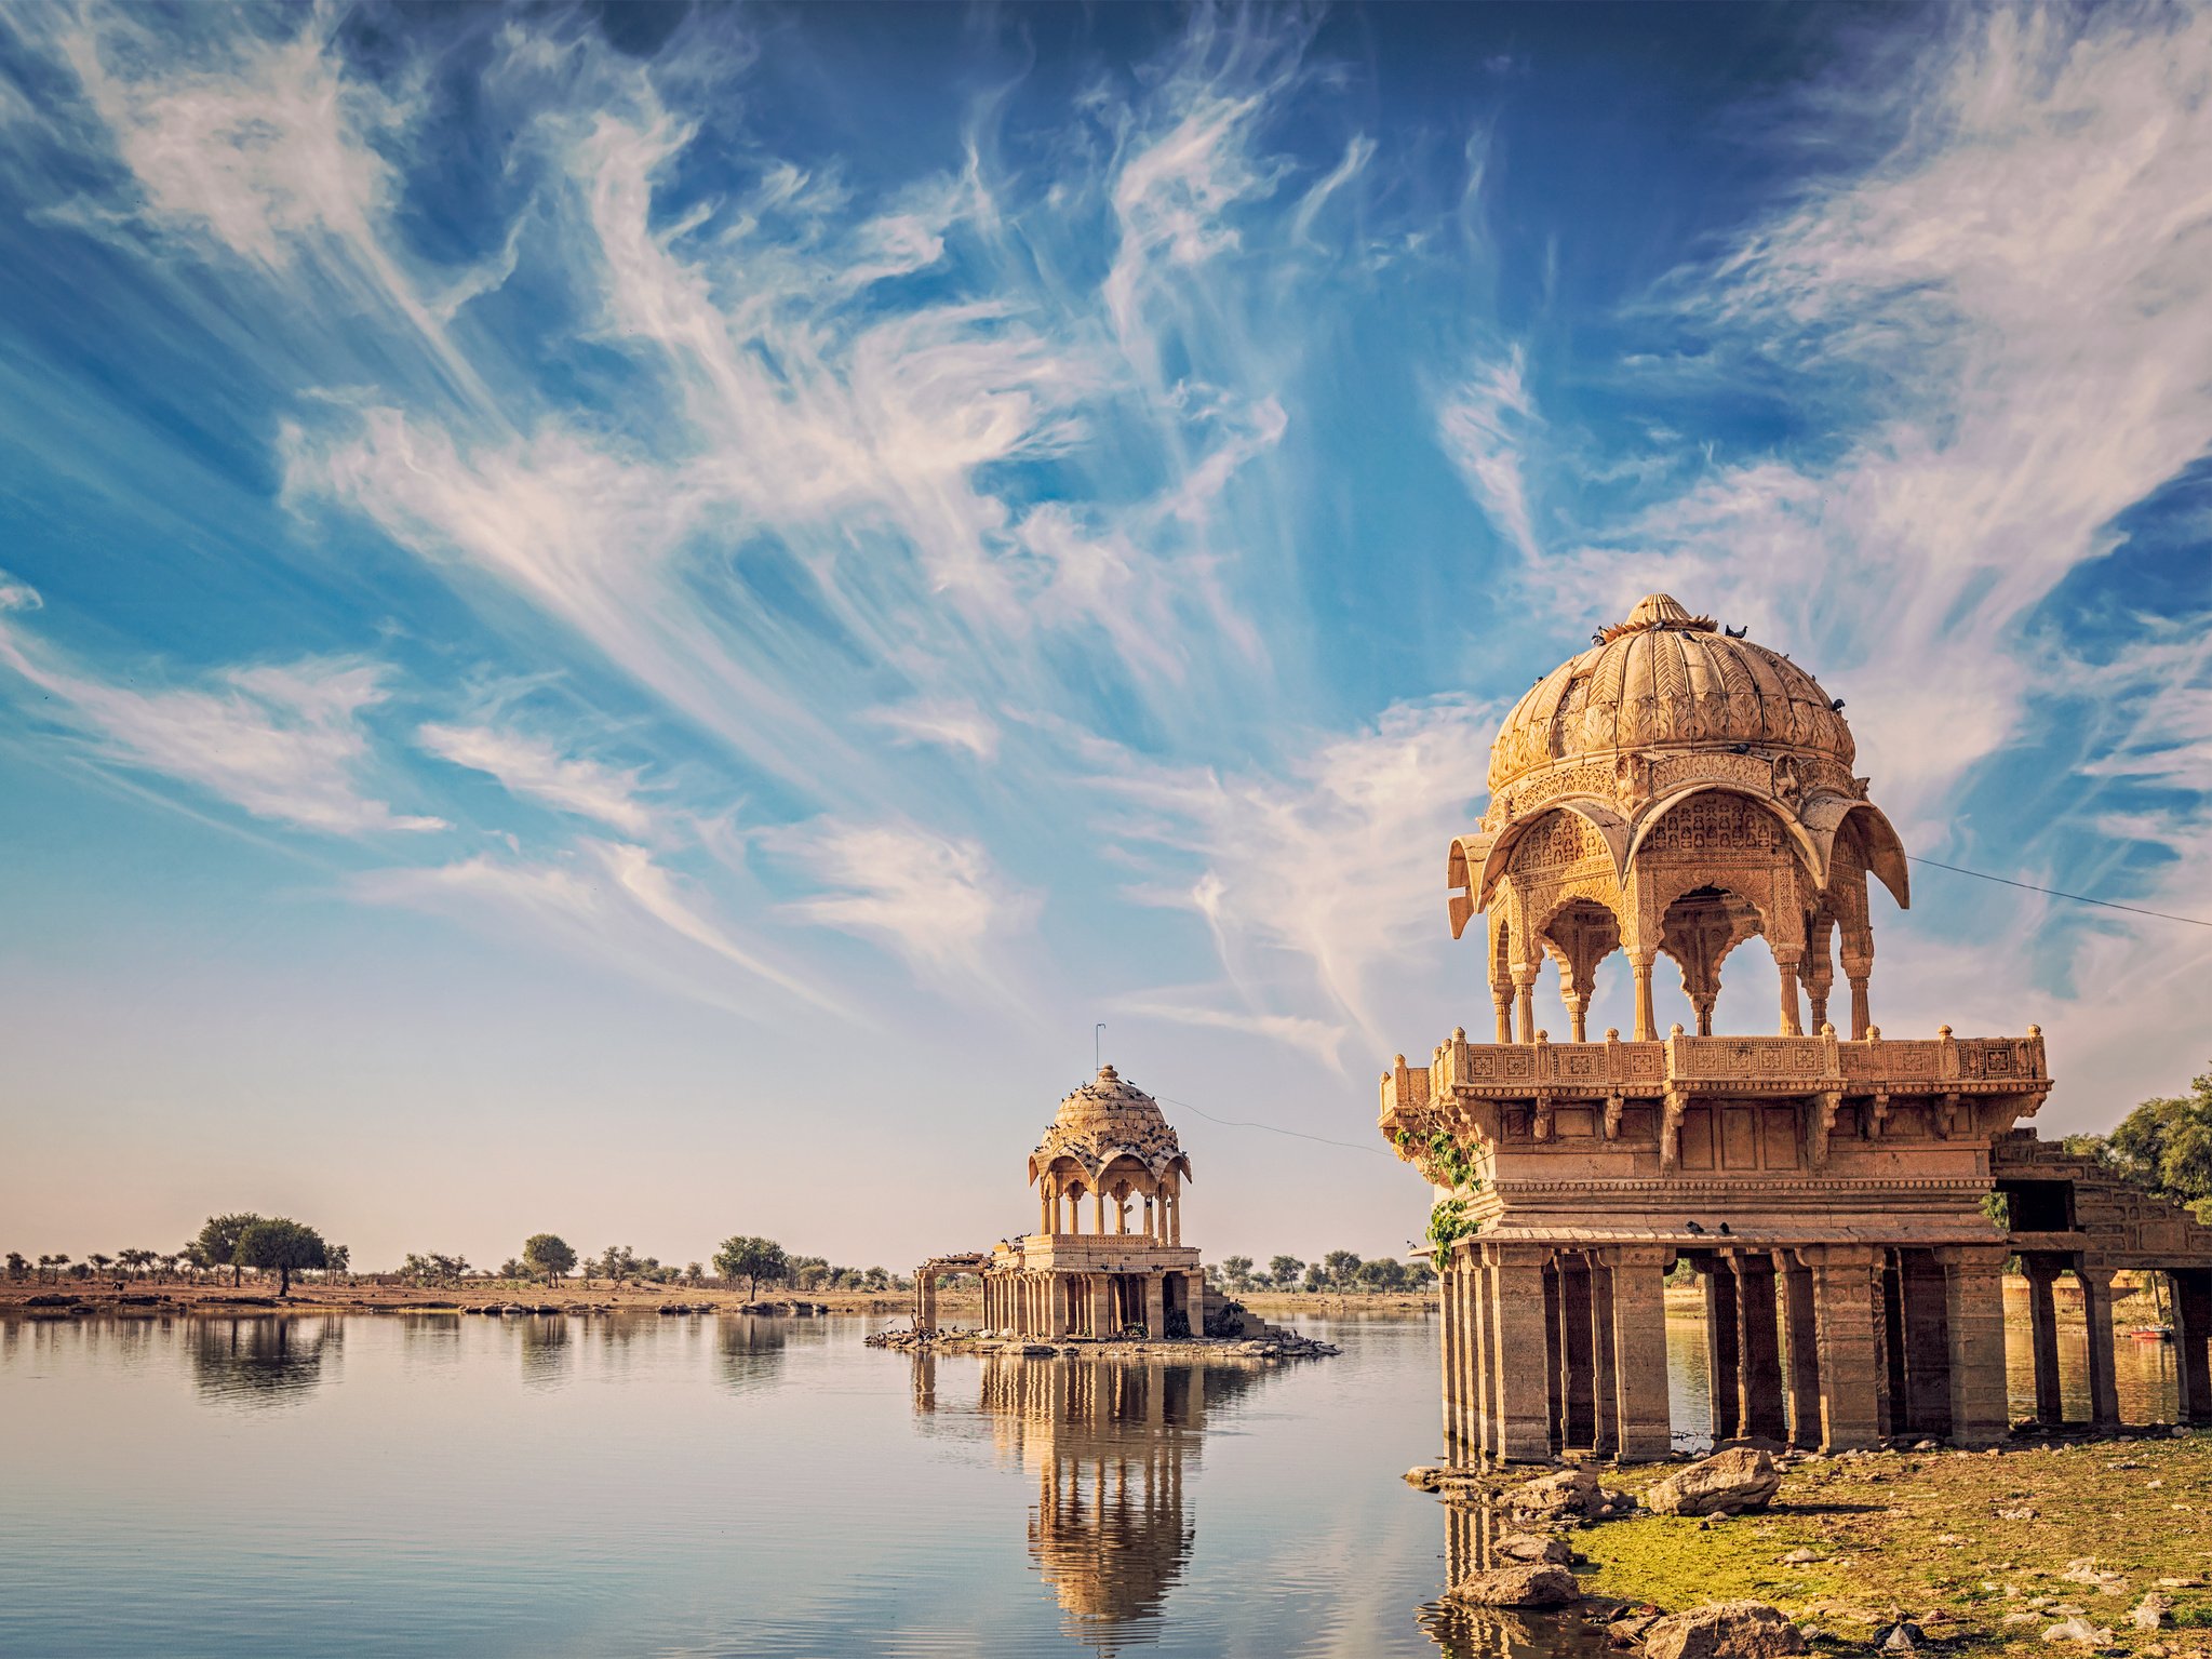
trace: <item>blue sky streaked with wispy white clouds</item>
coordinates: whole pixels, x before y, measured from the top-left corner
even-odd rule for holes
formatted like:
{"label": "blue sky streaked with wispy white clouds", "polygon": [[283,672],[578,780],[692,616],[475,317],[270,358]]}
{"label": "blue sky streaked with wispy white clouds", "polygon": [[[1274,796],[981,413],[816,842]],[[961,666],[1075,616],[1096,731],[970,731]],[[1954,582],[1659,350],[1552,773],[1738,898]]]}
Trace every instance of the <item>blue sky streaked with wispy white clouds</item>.
{"label": "blue sky streaked with wispy white clouds", "polygon": [[[898,1265],[1104,1020],[1194,1241],[1402,1250],[1447,838],[1650,588],[1911,852],[2212,914],[2208,82],[2132,7],[7,13],[0,1245]],[[1876,1020],[2042,1022],[2048,1128],[2203,1068],[2205,929],[1913,900]]]}

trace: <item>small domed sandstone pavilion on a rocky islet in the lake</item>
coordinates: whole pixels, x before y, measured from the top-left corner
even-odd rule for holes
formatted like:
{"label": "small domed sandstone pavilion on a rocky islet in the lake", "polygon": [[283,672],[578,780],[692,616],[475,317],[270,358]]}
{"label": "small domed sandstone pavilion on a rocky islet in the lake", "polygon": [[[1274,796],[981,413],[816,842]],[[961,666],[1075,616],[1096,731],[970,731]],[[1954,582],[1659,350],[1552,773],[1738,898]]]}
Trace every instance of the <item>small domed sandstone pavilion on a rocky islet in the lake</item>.
{"label": "small domed sandstone pavilion on a rocky islet in the lake", "polygon": [[1102,1066],[1060,1102],[1029,1155],[1037,1230],[989,1256],[925,1261],[914,1274],[914,1329],[938,1327],[938,1274],[980,1272],[982,1323],[993,1332],[1201,1336],[1206,1272],[1183,1243],[1188,1179],[1190,1159],[1159,1102]]}

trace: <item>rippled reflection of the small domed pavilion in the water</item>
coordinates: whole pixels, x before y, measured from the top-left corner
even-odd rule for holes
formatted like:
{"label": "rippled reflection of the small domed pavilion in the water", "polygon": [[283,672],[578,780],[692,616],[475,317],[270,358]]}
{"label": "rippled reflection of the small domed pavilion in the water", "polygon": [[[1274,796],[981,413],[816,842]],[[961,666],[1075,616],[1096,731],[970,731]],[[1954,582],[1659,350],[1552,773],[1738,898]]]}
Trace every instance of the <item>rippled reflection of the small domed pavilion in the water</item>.
{"label": "rippled reflection of the small domed pavilion in the water", "polygon": [[[1197,1520],[1186,1475],[1208,1407],[1265,1376],[1144,1360],[984,1358],[980,1411],[1006,1460],[1035,1480],[1029,1555],[1066,1610],[1066,1632],[1099,1652],[1150,1641],[1190,1562]],[[938,1409],[938,1360],[914,1360],[914,1409]]]}

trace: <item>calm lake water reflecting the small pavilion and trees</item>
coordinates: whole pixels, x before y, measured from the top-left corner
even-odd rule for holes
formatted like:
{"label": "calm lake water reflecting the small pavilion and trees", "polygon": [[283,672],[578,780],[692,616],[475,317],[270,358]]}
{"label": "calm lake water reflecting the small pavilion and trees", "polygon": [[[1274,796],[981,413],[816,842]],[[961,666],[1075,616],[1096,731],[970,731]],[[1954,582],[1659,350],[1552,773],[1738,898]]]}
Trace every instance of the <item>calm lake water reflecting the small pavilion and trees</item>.
{"label": "calm lake water reflecting the small pavilion and trees", "polygon": [[0,1321],[0,1652],[1597,1650],[1427,1608],[1433,1321],[1296,1321],[1343,1356],[1263,1369],[874,1323]]}

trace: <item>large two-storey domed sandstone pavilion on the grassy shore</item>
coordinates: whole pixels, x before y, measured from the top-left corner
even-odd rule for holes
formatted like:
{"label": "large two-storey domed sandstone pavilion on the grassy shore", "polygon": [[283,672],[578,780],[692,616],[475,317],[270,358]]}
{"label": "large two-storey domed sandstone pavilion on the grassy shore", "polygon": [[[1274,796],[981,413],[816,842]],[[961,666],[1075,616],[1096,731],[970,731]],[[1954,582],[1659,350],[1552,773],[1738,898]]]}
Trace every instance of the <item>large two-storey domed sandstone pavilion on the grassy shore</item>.
{"label": "large two-storey domed sandstone pavilion on the grassy shore", "polygon": [[[1495,1040],[1383,1075],[1383,1135],[1438,1188],[1453,1462],[1663,1455],[1677,1261],[1703,1279],[1717,1440],[2004,1436],[2011,1256],[2037,1418],[2062,1411],[2053,1281],[2081,1281],[2090,1411],[2117,1422],[2110,1283],[2148,1267],[2172,1274],[2183,1413],[2212,1420],[2212,1232],[2015,1130],[2051,1088],[2037,1026],[1874,1024],[1869,891],[1902,907],[1909,872],[1840,710],[1655,593],[1498,732],[1447,878],[1453,936],[1482,916]],[[1615,951],[1635,1031],[1590,1040]],[[1661,956],[1694,1031],[1655,1022]],[[1774,1035],[1714,1033],[1723,967],[1765,982]],[[1537,1024],[1551,969],[1564,1042]]]}

